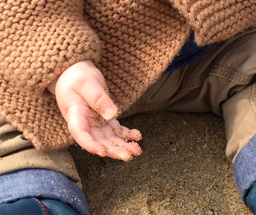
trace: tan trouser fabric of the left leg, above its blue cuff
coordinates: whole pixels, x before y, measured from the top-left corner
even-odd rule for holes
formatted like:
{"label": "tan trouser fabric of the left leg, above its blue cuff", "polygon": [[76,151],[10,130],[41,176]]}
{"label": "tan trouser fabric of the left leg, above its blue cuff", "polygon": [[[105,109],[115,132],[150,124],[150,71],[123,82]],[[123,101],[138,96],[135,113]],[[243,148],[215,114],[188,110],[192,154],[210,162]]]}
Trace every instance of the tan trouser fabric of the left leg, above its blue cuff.
{"label": "tan trouser fabric of the left leg, above its blue cuff", "polygon": [[3,118],[0,118],[0,157],[0,175],[26,168],[51,169],[81,186],[73,158],[67,150],[36,150],[31,141]]}

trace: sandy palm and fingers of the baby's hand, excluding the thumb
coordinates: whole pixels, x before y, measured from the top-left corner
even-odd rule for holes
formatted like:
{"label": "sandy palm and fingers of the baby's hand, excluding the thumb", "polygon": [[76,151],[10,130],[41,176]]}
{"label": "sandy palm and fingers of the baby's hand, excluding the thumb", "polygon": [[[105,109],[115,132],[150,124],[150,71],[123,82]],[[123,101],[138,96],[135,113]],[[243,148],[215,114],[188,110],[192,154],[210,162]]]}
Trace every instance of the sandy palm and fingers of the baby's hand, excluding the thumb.
{"label": "sandy palm and fingers of the baby's hand, excluding the thumb", "polygon": [[139,130],[128,129],[116,119],[107,121],[87,105],[72,106],[67,115],[72,136],[85,150],[124,161],[142,153],[138,143],[128,142],[141,139]]}

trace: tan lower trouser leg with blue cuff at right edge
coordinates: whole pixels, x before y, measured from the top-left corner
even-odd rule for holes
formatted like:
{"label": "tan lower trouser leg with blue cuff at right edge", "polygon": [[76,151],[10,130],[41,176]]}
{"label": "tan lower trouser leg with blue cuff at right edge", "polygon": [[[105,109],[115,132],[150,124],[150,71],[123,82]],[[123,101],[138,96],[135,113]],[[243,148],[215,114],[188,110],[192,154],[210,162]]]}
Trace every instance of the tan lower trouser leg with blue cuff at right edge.
{"label": "tan lower trouser leg with blue cuff at right edge", "polygon": [[228,142],[226,155],[233,162],[234,179],[245,204],[246,196],[256,182],[255,99],[256,84],[254,83],[222,105]]}

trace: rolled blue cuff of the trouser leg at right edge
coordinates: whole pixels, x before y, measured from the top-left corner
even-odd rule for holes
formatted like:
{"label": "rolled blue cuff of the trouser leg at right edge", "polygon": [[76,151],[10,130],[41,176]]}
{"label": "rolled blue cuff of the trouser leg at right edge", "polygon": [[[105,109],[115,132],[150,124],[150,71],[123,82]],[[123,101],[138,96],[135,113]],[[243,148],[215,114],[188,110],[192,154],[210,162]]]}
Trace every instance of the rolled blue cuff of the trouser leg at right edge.
{"label": "rolled blue cuff of the trouser leg at right edge", "polygon": [[256,181],[256,134],[240,150],[233,163],[233,175],[243,203]]}

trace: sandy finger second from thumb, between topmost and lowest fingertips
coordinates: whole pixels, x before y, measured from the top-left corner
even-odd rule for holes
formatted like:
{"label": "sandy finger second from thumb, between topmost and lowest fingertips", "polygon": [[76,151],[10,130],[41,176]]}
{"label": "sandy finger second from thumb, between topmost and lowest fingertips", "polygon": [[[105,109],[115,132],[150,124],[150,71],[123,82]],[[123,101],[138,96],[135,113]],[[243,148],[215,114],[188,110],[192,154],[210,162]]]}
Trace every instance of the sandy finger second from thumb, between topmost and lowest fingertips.
{"label": "sandy finger second from thumb, between topmost and lowest fingertips", "polygon": [[106,140],[109,140],[120,147],[127,148],[132,153],[132,155],[138,156],[142,153],[142,150],[138,143],[134,141],[126,142],[122,140],[120,137],[117,137],[116,135],[114,135],[114,132],[109,125],[104,126],[101,130],[103,131]]}

